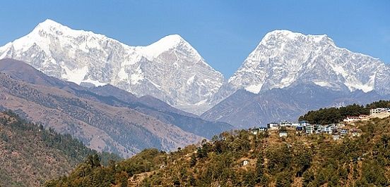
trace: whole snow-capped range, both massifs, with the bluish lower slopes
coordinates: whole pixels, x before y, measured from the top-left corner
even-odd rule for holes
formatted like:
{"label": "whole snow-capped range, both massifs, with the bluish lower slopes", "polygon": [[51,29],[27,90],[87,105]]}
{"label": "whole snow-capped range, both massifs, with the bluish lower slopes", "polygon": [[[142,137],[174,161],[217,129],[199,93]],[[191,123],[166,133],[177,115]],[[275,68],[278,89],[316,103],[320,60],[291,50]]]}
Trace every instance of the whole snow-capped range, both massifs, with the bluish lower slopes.
{"label": "whole snow-capped range, both massifs, with the bluish lower slopes", "polygon": [[297,120],[307,110],[390,98],[389,65],[341,49],[326,35],[288,30],[266,34],[228,80],[177,34],[128,46],[53,20],[1,46],[0,58],[81,85],[66,90],[78,97],[131,108],[203,137],[229,124],[264,126]]}

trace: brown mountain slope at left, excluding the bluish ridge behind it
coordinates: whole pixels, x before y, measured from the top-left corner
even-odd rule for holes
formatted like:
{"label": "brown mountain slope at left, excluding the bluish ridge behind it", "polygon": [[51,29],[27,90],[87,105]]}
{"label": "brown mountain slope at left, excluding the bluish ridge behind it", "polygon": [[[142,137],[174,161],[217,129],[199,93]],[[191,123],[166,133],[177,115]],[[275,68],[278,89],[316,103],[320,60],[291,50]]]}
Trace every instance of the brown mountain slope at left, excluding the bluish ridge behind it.
{"label": "brown mountain slope at left, excluding the bluish ridge behind it", "polygon": [[[11,70],[12,66],[23,75]],[[175,150],[202,138],[135,109],[104,103],[105,97],[47,77],[20,61],[0,60],[0,68],[9,74],[0,73],[0,108],[14,110],[61,134],[71,134],[95,150],[129,157],[144,148]],[[24,82],[25,77],[31,82]]]}

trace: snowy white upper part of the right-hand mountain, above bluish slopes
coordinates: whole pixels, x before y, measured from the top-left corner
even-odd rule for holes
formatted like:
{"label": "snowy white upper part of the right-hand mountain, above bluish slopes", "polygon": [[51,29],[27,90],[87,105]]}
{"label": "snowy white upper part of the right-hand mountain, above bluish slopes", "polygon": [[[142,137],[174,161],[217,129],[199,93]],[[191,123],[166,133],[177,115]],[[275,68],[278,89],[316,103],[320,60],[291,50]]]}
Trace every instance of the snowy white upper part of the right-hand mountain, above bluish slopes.
{"label": "snowy white upper part of the right-hand mountain, above bluish slopes", "polygon": [[390,93],[390,67],[377,58],[341,49],[326,35],[269,32],[216,96],[245,89],[259,93],[312,82],[335,91]]}

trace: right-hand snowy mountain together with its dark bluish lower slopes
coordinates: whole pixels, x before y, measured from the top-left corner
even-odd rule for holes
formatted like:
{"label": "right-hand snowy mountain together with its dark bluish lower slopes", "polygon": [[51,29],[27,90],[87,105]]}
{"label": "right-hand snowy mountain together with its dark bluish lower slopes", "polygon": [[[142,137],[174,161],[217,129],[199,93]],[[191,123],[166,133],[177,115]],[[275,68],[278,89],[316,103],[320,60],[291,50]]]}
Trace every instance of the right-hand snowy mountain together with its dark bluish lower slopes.
{"label": "right-hand snowy mountain together with its dark bluish lower slopes", "polygon": [[389,99],[390,67],[336,46],[326,35],[266,34],[203,113],[236,127],[297,120],[302,112]]}

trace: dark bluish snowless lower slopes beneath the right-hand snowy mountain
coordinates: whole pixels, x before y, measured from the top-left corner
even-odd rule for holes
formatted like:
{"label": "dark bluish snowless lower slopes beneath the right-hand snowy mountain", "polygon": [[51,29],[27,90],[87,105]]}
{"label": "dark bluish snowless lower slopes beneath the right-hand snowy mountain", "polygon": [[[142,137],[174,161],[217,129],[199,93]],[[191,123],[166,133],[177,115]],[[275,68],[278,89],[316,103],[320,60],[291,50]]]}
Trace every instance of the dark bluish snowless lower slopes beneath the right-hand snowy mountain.
{"label": "dark bluish snowless lower slopes beneath the right-hand snowy mountain", "polygon": [[390,99],[375,91],[333,91],[317,84],[297,84],[255,94],[240,89],[204,112],[204,120],[227,122],[237,129],[266,126],[279,120],[297,121],[308,110],[338,107],[353,103],[366,104]]}

